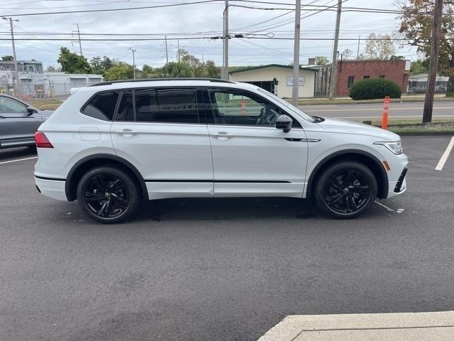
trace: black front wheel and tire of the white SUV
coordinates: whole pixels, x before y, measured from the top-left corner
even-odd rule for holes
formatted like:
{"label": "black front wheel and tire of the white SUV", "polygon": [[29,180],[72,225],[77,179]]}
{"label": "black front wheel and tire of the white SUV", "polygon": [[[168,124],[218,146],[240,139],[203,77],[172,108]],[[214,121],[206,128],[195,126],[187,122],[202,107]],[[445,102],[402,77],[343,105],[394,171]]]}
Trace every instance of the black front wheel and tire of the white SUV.
{"label": "black front wheel and tire of the white SUV", "polygon": [[362,163],[343,161],[324,169],[316,181],[316,205],[338,219],[362,215],[377,196],[377,179]]}

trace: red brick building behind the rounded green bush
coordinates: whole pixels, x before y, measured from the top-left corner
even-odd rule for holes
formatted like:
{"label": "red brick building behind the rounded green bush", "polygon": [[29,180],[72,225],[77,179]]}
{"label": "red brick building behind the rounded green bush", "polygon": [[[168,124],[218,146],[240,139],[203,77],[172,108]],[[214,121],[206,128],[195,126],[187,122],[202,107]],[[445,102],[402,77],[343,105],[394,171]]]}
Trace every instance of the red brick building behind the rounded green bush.
{"label": "red brick building behind the rounded green bush", "polygon": [[348,97],[351,85],[365,78],[392,80],[406,93],[409,71],[409,60],[343,60],[338,63],[336,96]]}

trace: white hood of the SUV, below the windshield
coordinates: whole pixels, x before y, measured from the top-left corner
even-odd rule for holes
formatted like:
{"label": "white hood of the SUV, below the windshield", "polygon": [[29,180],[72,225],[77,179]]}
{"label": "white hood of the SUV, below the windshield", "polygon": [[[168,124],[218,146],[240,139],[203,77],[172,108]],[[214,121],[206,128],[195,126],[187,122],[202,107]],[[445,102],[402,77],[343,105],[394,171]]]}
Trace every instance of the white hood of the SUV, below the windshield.
{"label": "white hood of the SUV, below the windshield", "polygon": [[376,136],[382,141],[399,141],[400,136],[387,131],[376,126],[370,126],[368,124],[362,124],[353,121],[344,121],[342,119],[325,119],[323,122],[319,122],[319,126],[323,130],[348,133],[348,134],[357,134],[357,135],[367,135],[367,136]]}

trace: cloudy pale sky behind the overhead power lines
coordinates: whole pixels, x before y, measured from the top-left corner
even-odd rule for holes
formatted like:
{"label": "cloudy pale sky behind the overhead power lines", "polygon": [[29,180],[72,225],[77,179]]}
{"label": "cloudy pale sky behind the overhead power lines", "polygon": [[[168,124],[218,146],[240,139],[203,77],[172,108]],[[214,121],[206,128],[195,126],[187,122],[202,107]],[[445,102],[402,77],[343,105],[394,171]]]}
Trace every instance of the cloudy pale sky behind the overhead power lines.
{"label": "cloudy pale sky behind the overhead power lines", "polygon": [[[153,6],[160,4],[175,4],[178,2],[192,2],[194,0],[1,0],[0,16],[15,16],[19,13],[37,13],[44,11],[79,11],[87,9],[117,9],[134,6]],[[196,0],[195,0],[196,1]],[[271,1],[271,0],[266,0]],[[289,0],[279,0],[279,3],[291,4]],[[317,5],[331,6],[336,0],[302,0],[302,4],[314,2]],[[238,1],[231,4],[240,4]],[[244,3],[243,3],[244,4]],[[249,4],[250,6],[266,6],[262,4]],[[275,5],[278,6],[278,5]],[[280,7],[283,7],[279,5]],[[397,9],[394,0],[346,0],[345,7],[372,7],[377,9]],[[229,26],[233,33],[253,33],[265,35],[273,33],[275,37],[293,36],[294,23],[289,22],[294,18],[294,13],[289,11],[265,11],[257,9],[244,9],[231,6]],[[222,23],[223,3],[194,4],[187,6],[171,7],[167,9],[140,9],[130,11],[92,12],[92,13],[67,13],[40,16],[16,16],[16,38],[43,38],[39,33],[71,33],[76,29],[74,23],[79,23],[81,33],[153,33],[167,34],[167,38],[184,37],[188,33],[209,32],[204,37],[217,36],[223,29]],[[287,14],[286,14],[287,13]],[[308,12],[314,13],[314,12]],[[307,14],[307,13],[306,13]],[[282,15],[279,18],[276,16]],[[304,11],[301,12],[304,15]],[[270,21],[268,21],[270,20]],[[333,38],[336,13],[323,11],[301,21],[302,38]],[[262,23],[263,22],[263,23]],[[248,26],[248,27],[245,27]],[[279,27],[273,27],[279,26]],[[395,33],[399,27],[396,14],[388,13],[342,13],[341,38],[365,38],[369,33]],[[240,29],[243,28],[243,29]],[[33,33],[34,36],[23,36],[23,33]],[[22,34],[21,34],[22,33]],[[172,33],[179,33],[172,35]],[[63,38],[63,36],[49,36]],[[69,36],[64,36],[70,39]],[[95,38],[94,36],[83,36]],[[0,38],[9,38],[9,23],[0,21]],[[100,38],[99,36],[96,38]],[[106,36],[101,38],[108,38]],[[114,37],[110,37],[114,38]],[[125,37],[118,37],[125,38]],[[128,36],[126,38],[131,38]],[[163,36],[153,36],[162,39]],[[169,59],[175,60],[177,53],[177,40],[168,40]],[[68,41],[24,41],[16,42],[18,60],[41,60],[45,67],[57,65],[57,56],[60,46],[66,46],[74,52],[79,51],[76,36],[73,42]],[[217,65],[222,63],[222,42],[200,38],[197,40],[179,40],[179,45],[197,58],[214,60]],[[365,41],[360,42],[360,52]],[[82,41],[82,52],[88,59],[96,55],[107,55],[109,58],[123,60],[132,64],[132,53],[128,47],[137,50],[135,63],[138,67],[143,64],[153,67],[165,63],[164,40],[155,41]],[[338,50],[349,48],[355,56],[358,50],[358,40],[341,40]],[[332,40],[301,40],[301,64],[306,64],[309,57],[324,55],[331,59],[333,49]],[[230,65],[260,65],[260,64],[289,64],[292,63],[292,40],[265,40],[265,39],[238,39],[230,40]],[[398,48],[397,55],[415,60],[416,50],[409,46]],[[11,55],[11,40],[0,40],[0,55]]]}

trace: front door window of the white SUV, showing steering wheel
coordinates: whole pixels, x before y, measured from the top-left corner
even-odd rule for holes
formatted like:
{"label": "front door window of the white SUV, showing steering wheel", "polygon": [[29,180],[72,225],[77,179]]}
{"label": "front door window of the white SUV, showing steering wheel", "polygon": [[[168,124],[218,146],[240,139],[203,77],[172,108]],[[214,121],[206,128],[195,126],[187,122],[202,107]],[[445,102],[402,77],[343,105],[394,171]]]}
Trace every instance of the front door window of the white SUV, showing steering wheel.
{"label": "front door window of the white SUV, showing steering wheel", "polygon": [[279,108],[260,96],[240,90],[211,90],[215,124],[274,126]]}

